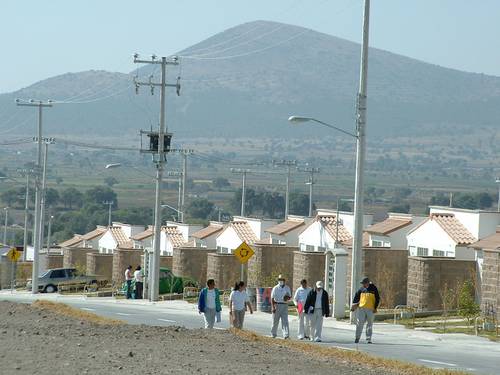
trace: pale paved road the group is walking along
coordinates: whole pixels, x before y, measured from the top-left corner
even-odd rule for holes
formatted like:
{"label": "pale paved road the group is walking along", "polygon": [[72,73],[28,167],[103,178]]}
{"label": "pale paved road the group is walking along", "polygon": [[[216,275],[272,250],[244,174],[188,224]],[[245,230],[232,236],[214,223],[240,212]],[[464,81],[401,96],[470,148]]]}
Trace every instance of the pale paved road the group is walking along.
{"label": "pale paved road the group is walking along", "polygon": [[[95,314],[124,320],[130,324],[181,325],[200,328],[203,319],[196,306],[183,301],[149,303],[54,295],[32,296],[29,293],[0,292],[0,300],[29,303],[43,298],[63,302]],[[290,319],[291,333],[297,332],[297,319]],[[217,329],[228,328],[227,309]],[[270,334],[270,315],[255,313],[245,317],[245,327],[262,335]],[[377,356],[409,361],[432,368],[465,370],[477,374],[500,373],[500,344],[463,334],[438,335],[405,329],[402,326],[376,323],[372,345],[353,342],[354,327],[333,319],[325,320],[323,342],[318,345],[361,350]]]}

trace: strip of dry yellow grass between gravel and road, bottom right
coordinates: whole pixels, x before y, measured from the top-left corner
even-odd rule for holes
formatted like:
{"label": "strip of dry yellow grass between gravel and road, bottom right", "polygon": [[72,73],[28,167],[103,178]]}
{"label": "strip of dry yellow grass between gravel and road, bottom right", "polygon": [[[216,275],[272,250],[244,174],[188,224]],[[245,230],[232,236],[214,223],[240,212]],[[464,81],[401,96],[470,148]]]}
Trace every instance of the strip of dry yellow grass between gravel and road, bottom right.
{"label": "strip of dry yellow grass between gravel and road, bottom right", "polygon": [[231,329],[231,331],[246,340],[257,341],[266,345],[279,345],[291,350],[314,355],[318,357],[333,357],[343,361],[349,361],[361,366],[379,368],[388,373],[401,375],[466,375],[466,372],[436,370],[413,363],[376,357],[367,353],[351,350],[343,350],[332,347],[324,347],[310,343],[297,342],[293,340],[276,340],[270,337],[260,336],[252,332]]}

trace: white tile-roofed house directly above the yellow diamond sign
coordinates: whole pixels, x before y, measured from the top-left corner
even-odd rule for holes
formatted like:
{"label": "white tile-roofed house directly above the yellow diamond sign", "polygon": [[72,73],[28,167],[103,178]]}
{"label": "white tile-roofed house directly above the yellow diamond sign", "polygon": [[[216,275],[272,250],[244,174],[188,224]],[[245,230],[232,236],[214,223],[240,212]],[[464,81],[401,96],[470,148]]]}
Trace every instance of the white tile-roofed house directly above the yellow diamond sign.
{"label": "white tile-roofed house directly above the yellow diamond sign", "polygon": [[233,221],[219,232],[216,248],[223,254],[231,254],[242,242],[251,245],[264,239],[266,230],[276,224],[275,220],[235,216]]}

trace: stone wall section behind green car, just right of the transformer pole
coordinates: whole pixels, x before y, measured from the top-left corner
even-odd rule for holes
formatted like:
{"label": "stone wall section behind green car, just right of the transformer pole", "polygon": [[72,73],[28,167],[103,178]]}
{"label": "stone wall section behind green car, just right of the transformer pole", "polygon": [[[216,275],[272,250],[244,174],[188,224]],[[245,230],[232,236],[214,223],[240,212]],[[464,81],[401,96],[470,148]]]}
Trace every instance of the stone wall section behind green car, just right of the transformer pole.
{"label": "stone wall section behind green car, just right of the transformer pole", "polygon": [[214,253],[215,249],[200,247],[174,248],[172,272],[176,276],[191,277],[199,285],[207,281],[207,255]]}

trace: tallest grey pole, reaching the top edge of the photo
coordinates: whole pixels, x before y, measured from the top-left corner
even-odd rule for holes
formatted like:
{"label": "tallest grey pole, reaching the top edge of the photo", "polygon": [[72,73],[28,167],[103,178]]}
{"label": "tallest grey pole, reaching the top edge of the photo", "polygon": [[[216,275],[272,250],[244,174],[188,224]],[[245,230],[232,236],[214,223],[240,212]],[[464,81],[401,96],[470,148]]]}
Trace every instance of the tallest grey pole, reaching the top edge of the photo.
{"label": "tallest grey pole, reaching the top edge of the photo", "polygon": [[[370,0],[365,0],[363,15],[363,42],[359,71],[359,92],[356,106],[356,181],[354,190],[354,238],[352,246],[351,295],[356,294],[363,264],[363,197],[366,148],[366,105],[368,80],[368,37],[370,27]],[[351,323],[354,314],[351,312]]]}

